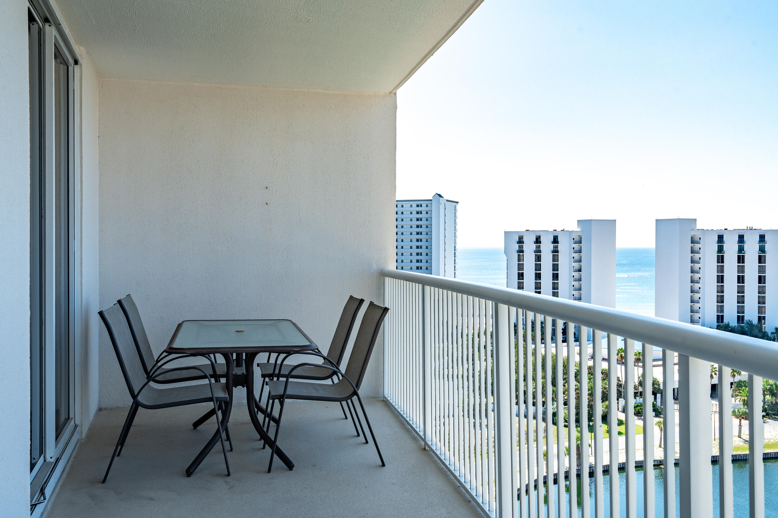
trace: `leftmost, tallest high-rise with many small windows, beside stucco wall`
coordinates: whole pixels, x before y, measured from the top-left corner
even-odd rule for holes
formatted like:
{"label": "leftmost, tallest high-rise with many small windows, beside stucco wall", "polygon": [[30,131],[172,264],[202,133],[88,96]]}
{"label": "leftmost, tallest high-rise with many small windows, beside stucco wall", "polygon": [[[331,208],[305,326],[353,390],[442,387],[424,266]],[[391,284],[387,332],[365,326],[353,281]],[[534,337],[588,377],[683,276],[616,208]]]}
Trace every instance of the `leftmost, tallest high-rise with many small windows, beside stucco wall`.
{"label": "leftmost, tallest high-rise with many small windows, beside stucco wall", "polygon": [[397,269],[457,276],[458,204],[440,194],[430,200],[397,200],[394,205]]}

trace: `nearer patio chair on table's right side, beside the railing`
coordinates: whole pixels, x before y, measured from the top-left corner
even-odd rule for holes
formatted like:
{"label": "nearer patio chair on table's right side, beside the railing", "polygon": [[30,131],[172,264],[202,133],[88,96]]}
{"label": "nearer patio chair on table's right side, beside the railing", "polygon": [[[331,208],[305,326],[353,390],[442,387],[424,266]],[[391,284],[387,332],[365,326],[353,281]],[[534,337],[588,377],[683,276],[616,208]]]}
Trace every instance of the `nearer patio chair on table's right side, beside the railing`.
{"label": "nearer patio chair on table's right side, beside the railing", "polygon": [[[373,427],[370,426],[370,419],[368,419],[365,412],[365,405],[362,403],[362,398],[359,397],[359,387],[362,386],[362,381],[365,377],[365,370],[367,369],[367,363],[370,361],[370,355],[373,353],[373,347],[376,345],[376,339],[381,325],[384,323],[389,308],[384,308],[378,304],[370,302],[365,315],[363,315],[362,323],[359,325],[359,332],[356,333],[356,339],[354,340],[354,346],[349,356],[349,363],[346,365],[345,372],[338,367],[327,364],[317,363],[297,363],[295,366],[289,369],[289,374],[285,380],[273,380],[268,381],[268,400],[272,401],[269,405],[270,408],[266,410],[267,414],[272,414],[273,406],[275,402],[279,401],[279,417],[278,423],[275,426],[275,437],[273,439],[273,446],[270,453],[270,463],[268,464],[268,473],[270,473],[273,467],[273,457],[275,457],[275,446],[279,440],[279,430],[281,429],[281,419],[284,413],[284,406],[287,399],[305,399],[309,401],[324,401],[324,402],[349,402],[353,398],[356,398],[359,402],[359,407],[362,408],[362,415],[365,417],[367,423],[367,429],[370,430],[370,436],[373,437],[373,444],[376,447],[378,457],[380,458],[381,465],[386,466],[384,462],[384,456],[381,455],[381,450],[378,447],[376,436],[373,433]],[[304,353],[311,356],[319,356],[326,359],[327,357],[321,353]],[[326,361],[326,360],[325,360]],[[335,384],[324,384],[310,381],[292,381],[295,370],[304,369],[306,367],[318,367],[321,369],[331,370],[333,373],[338,374],[341,379]],[[354,406],[356,412],[356,405]],[[356,414],[356,420],[359,422],[359,427],[362,428],[362,435],[365,438],[365,443],[368,443],[365,429],[362,426],[362,420],[359,419],[359,414]],[[268,431],[270,429],[270,422],[267,423]]]}

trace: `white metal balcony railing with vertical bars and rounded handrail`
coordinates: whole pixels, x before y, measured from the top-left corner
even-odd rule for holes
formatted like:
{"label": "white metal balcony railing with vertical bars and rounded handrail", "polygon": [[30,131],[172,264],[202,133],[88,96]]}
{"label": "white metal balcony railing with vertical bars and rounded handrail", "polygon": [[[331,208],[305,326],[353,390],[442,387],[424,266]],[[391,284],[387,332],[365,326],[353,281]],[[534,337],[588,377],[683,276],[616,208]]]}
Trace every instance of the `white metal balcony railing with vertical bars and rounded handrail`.
{"label": "white metal balcony railing with vertical bars and rounded handrail", "polygon": [[[626,516],[637,516],[638,502],[641,515],[654,516],[654,476],[637,487],[633,391],[622,395],[623,479],[617,469],[608,469],[619,464],[619,434],[606,442],[603,422],[591,416],[602,415],[606,402],[608,408],[618,404],[619,369],[624,387],[633,387],[640,372],[643,394],[651,394],[656,365],[664,387],[675,387],[678,376],[678,480],[675,448],[655,447],[653,412],[644,412],[643,463],[653,466],[655,452],[662,457],[664,516],[675,516],[676,486],[681,516],[712,516],[709,392],[715,363],[720,379],[729,379],[731,368],[748,373],[750,516],[764,516],[761,377],[778,379],[776,343],[526,291],[393,269],[382,273],[384,301],[391,308],[384,325],[384,396],[485,514],[556,516],[559,509],[559,516],[602,518],[608,498],[610,516],[621,516],[624,497]],[[636,350],[654,358],[654,346],[661,348],[660,363],[617,364]],[[582,359],[603,376],[590,377],[588,368],[580,368]],[[607,398],[593,398],[590,408],[588,395],[601,394],[605,382]],[[720,412],[729,415],[729,384],[721,384],[719,392]],[[668,412],[663,408],[665,445],[676,445],[672,401],[668,398]],[[566,428],[562,418],[568,409],[569,422],[592,426],[591,454],[586,438],[579,443],[581,453],[576,451],[576,427]],[[619,429],[618,420],[618,412],[608,412],[609,429]],[[719,420],[719,435],[718,504],[721,516],[733,516],[731,419]],[[591,494],[582,492],[579,509],[576,484],[568,493],[563,478],[571,467],[575,476],[580,465],[580,487],[590,488],[591,471],[593,488]],[[555,479],[560,483],[553,484]]]}

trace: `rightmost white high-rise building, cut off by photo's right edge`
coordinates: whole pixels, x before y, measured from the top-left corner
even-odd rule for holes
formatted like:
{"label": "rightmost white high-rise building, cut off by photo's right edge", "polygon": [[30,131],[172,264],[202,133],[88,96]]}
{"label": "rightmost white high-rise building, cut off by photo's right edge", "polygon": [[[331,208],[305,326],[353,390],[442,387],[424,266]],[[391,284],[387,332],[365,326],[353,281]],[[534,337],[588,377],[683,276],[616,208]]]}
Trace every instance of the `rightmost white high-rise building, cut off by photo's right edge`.
{"label": "rightmost white high-rise building, cut off by photo's right edge", "polygon": [[656,239],[657,317],[706,327],[746,320],[778,326],[778,260],[775,250],[767,253],[778,230],[705,230],[696,219],[678,218],[657,220]]}

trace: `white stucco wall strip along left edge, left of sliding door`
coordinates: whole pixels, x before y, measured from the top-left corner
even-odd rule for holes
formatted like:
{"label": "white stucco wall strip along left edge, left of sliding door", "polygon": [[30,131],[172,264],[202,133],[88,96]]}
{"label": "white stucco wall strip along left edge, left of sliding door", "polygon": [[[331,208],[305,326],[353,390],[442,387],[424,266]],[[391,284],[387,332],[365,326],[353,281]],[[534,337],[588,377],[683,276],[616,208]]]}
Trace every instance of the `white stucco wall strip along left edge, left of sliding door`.
{"label": "white stucco wall strip along left edge, left of sliding door", "polygon": [[30,75],[27,2],[0,2],[0,516],[30,516]]}

